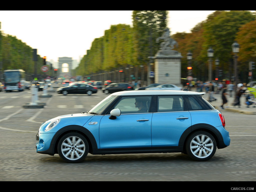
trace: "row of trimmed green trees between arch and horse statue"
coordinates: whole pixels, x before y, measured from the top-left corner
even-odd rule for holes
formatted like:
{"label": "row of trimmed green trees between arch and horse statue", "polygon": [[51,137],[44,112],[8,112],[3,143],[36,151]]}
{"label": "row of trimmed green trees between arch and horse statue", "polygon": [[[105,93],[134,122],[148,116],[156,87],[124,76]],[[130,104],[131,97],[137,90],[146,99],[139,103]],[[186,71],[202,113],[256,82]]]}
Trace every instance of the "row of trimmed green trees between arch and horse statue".
{"label": "row of trimmed green trees between arch and horse statue", "polygon": [[105,30],[104,36],[92,42],[84,55],[76,74],[111,71],[126,66],[148,63],[159,49],[156,38],[166,28],[167,11],[133,11],[133,27],[125,24],[113,25]]}

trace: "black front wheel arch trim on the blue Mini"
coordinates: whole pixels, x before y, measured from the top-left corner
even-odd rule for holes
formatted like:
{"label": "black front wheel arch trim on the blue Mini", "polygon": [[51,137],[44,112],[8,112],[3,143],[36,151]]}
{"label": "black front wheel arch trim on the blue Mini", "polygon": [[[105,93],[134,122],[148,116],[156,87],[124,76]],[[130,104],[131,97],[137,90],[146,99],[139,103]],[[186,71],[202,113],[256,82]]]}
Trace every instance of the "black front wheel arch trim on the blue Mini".
{"label": "black front wheel arch trim on the blue Mini", "polygon": [[58,153],[57,147],[58,147],[58,142],[60,138],[66,133],[70,133],[70,132],[80,133],[87,139],[89,144],[89,153],[92,152],[92,149],[98,148],[94,136],[88,129],[79,125],[68,125],[66,127],[61,128],[59,131],[57,131],[51,140],[51,145],[54,146],[54,154]]}

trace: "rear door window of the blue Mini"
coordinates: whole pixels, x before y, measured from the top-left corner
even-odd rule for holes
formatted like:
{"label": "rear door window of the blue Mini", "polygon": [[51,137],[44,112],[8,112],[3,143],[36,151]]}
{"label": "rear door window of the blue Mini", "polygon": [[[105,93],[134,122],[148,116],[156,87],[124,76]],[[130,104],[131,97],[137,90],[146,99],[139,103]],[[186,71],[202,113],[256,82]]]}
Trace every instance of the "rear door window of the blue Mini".
{"label": "rear door window of the blue Mini", "polygon": [[158,96],[157,112],[184,111],[184,100],[180,95]]}

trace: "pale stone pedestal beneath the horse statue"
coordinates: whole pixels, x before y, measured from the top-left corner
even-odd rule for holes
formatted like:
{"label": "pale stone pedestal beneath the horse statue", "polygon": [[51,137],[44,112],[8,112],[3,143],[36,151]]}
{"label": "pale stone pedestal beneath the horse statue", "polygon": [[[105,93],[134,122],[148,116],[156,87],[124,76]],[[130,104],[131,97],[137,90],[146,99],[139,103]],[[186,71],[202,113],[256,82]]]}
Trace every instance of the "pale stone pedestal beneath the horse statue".
{"label": "pale stone pedestal beneath the horse statue", "polygon": [[155,83],[175,84],[181,83],[181,54],[174,50],[160,50],[155,57]]}

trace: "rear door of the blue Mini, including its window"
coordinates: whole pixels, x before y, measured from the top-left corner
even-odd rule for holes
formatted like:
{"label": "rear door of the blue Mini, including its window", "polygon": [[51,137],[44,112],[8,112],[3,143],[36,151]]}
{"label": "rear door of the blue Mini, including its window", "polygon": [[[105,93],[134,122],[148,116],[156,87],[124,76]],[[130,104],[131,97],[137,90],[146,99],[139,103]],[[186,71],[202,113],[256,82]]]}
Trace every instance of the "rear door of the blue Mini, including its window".
{"label": "rear door of the blue Mini, including its window", "polygon": [[152,116],[152,147],[178,146],[183,132],[191,126],[182,95],[157,97],[157,112]]}

